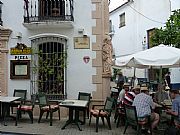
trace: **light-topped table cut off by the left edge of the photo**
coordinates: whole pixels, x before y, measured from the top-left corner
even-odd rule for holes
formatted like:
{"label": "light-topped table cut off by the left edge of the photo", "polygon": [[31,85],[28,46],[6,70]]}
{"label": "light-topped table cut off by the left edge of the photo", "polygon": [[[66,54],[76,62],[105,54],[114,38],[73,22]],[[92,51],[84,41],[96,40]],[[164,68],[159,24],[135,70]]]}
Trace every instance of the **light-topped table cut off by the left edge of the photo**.
{"label": "light-topped table cut off by the left edge of the photo", "polygon": [[3,97],[0,96],[0,118],[4,121],[6,126],[6,117],[11,117],[9,114],[10,103],[20,99],[21,97]]}

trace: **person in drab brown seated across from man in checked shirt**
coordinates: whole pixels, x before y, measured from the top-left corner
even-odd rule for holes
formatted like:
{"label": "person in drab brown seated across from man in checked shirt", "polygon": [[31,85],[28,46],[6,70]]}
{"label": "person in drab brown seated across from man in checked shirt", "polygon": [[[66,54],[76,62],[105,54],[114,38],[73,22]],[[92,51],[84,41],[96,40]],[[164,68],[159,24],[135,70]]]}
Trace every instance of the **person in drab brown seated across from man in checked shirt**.
{"label": "person in drab brown seated across from man in checked shirt", "polygon": [[162,102],[164,100],[169,100],[169,99],[170,99],[170,96],[169,96],[168,92],[165,91],[165,85],[159,83],[158,90],[155,93],[154,98],[153,98],[154,102],[156,102],[158,104],[162,104]]}

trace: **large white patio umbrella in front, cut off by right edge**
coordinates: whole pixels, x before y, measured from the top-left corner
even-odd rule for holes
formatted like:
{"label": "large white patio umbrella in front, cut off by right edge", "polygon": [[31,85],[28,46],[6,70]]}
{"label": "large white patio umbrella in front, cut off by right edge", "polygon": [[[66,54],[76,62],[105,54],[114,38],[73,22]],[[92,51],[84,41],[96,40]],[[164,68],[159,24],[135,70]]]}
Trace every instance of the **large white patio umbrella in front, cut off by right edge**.
{"label": "large white patio umbrella in front, cut off by right edge", "polygon": [[159,45],[134,54],[133,64],[154,68],[180,67],[180,49]]}

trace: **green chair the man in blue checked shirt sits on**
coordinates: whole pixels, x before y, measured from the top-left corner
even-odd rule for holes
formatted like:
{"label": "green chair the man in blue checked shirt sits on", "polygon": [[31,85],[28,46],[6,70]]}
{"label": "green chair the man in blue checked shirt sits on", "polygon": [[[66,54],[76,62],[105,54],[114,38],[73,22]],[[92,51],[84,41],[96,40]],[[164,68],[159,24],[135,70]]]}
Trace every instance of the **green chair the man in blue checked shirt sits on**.
{"label": "green chair the man in blue checked shirt sits on", "polygon": [[138,118],[136,107],[127,104],[124,104],[124,110],[126,116],[124,134],[128,126],[131,125],[137,127],[137,135],[141,135],[142,126],[148,126],[150,128],[150,133],[152,135],[150,116]]}

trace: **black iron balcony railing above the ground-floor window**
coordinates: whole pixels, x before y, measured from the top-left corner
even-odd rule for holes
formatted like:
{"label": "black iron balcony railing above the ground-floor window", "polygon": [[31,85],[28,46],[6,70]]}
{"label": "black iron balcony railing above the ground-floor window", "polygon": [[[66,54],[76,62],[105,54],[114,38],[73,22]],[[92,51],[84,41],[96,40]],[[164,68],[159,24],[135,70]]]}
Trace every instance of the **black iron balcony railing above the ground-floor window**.
{"label": "black iron balcony railing above the ground-floor window", "polygon": [[74,21],[73,0],[24,0],[24,23]]}

